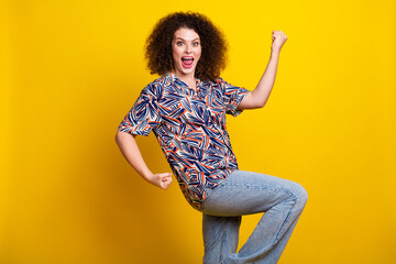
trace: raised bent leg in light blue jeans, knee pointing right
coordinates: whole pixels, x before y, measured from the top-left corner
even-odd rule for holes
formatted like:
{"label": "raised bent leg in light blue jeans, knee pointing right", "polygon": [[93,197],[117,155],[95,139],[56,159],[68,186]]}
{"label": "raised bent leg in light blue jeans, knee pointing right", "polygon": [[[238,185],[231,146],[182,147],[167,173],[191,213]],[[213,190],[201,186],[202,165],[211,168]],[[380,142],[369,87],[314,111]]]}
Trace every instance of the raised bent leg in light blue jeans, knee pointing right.
{"label": "raised bent leg in light blue jeans, knee pointing right", "polygon": [[[270,175],[235,170],[202,204],[202,212],[238,217],[265,212],[229,263],[276,263],[307,201],[298,184]],[[220,262],[218,262],[220,263]]]}

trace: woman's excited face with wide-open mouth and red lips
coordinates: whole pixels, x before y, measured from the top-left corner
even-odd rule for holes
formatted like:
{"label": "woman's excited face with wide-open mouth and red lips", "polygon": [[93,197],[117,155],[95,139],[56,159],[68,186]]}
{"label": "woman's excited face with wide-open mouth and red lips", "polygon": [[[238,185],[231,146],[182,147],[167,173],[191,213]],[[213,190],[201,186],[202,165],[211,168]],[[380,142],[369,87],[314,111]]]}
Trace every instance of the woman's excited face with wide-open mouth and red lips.
{"label": "woman's excited face with wide-open mouth and red lips", "polygon": [[191,29],[178,29],[172,41],[172,56],[176,76],[193,76],[201,55],[200,38]]}

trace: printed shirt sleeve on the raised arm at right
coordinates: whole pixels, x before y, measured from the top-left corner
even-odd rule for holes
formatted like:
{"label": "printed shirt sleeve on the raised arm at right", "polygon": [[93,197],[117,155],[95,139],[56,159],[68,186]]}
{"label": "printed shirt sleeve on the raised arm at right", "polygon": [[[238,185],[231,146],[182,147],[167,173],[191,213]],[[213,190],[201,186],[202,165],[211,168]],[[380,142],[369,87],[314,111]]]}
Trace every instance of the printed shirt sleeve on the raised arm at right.
{"label": "printed shirt sleeve on the raised arm at right", "polygon": [[243,98],[250,92],[250,90],[233,86],[222,78],[220,79],[220,85],[223,91],[223,102],[227,108],[227,113],[232,114],[233,117],[239,116],[242,110],[238,108]]}

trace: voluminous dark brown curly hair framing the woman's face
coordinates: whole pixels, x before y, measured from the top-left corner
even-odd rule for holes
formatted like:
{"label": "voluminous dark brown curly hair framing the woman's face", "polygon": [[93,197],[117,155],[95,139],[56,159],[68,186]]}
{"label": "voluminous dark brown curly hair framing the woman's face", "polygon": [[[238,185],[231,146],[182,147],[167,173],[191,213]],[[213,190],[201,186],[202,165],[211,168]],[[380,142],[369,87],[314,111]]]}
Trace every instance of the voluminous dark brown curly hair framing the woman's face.
{"label": "voluminous dark brown curly hair framing the woman's face", "polygon": [[155,24],[145,44],[150,73],[164,75],[174,69],[172,41],[180,28],[194,30],[200,38],[202,51],[195,76],[202,80],[217,79],[226,68],[228,44],[219,29],[196,12],[170,13]]}

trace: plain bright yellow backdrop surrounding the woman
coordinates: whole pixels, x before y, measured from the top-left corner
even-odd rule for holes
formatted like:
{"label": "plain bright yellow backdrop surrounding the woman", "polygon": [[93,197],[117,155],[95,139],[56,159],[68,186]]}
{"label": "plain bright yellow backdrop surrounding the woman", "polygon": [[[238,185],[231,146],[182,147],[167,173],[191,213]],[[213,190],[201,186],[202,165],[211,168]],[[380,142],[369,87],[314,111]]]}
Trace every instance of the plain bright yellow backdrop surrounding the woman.
{"label": "plain bright yellow backdrop surrounding the woman", "polygon": [[[300,183],[307,207],[279,263],[396,263],[396,3],[18,0],[0,6],[0,263],[201,263],[201,216],[143,182],[114,135],[156,78],[143,45],[173,11],[230,43],[222,77],[253,89],[285,44],[264,109],[229,118],[241,169]],[[169,172],[153,135],[146,163]],[[258,216],[246,217],[241,244]]]}

